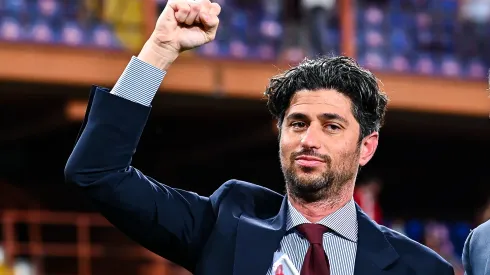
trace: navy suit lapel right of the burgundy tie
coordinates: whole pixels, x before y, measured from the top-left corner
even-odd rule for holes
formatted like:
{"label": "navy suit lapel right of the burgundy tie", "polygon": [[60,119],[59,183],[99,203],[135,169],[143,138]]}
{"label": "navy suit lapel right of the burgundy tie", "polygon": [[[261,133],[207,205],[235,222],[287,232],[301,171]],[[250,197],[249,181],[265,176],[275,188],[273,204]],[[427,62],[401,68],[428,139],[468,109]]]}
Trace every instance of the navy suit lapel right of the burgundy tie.
{"label": "navy suit lapel right of the burgundy tie", "polygon": [[408,268],[394,267],[399,255],[375,224],[356,204],[359,236],[354,275],[409,274]]}

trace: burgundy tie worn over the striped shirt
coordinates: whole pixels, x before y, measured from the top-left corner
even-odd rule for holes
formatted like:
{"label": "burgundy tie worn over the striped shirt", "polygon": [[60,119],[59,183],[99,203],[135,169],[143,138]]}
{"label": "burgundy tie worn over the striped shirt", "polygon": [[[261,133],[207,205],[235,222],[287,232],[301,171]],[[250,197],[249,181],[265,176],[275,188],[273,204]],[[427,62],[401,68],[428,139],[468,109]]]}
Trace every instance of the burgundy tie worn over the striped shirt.
{"label": "burgundy tie worn over the striped shirt", "polygon": [[321,224],[301,224],[297,229],[310,242],[301,275],[330,275],[330,265],[323,250],[323,234],[328,228]]}

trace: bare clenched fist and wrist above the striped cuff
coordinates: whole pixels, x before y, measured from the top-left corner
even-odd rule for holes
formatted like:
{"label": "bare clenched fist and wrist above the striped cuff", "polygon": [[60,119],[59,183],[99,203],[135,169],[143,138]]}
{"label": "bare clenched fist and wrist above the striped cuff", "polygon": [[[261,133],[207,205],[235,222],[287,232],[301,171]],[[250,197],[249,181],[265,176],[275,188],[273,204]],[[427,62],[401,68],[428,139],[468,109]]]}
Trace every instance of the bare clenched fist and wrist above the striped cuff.
{"label": "bare clenched fist and wrist above the striped cuff", "polygon": [[209,0],[169,0],[138,58],[166,69],[179,53],[216,37],[220,12]]}

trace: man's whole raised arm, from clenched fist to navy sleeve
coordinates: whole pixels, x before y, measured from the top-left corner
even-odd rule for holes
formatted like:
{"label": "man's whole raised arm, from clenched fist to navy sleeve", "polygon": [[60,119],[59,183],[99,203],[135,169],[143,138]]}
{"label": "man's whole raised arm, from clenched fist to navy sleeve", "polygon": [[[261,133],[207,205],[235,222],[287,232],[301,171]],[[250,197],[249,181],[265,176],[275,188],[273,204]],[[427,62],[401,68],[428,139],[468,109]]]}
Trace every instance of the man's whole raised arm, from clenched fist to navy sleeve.
{"label": "man's whole raised arm, from clenched fist to navy sleeve", "polygon": [[117,228],[191,271],[223,192],[207,198],[173,189],[132,167],[131,159],[165,71],[180,52],[214,39],[219,12],[208,0],[169,1],[112,91],[92,89],[65,167],[67,182],[79,186]]}

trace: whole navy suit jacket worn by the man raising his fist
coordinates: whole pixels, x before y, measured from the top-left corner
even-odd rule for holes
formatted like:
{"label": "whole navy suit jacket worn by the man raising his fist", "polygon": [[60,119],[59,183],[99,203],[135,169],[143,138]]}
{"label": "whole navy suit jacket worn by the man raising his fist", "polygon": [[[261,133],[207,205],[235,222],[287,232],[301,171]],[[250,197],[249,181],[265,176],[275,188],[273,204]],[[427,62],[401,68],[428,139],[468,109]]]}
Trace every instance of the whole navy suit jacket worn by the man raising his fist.
{"label": "whole navy suit jacket worn by the man raising his fist", "polygon": [[[194,274],[265,275],[285,234],[285,196],[230,180],[210,197],[171,188],[131,166],[150,107],[92,89],[65,177],[127,236]],[[355,275],[453,275],[427,247],[357,206]]]}

